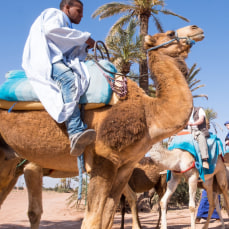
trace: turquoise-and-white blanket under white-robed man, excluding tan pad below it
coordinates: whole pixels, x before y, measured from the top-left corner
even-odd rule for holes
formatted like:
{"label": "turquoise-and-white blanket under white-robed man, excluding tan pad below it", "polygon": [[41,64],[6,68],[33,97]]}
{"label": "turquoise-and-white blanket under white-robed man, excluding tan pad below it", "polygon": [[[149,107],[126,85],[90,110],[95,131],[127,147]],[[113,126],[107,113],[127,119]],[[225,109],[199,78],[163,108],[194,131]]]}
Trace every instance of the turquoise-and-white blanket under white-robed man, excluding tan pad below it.
{"label": "turquoise-and-white blanket under white-robed man, excluding tan pad below it", "polygon": [[[116,73],[115,66],[107,61],[99,63],[108,71]],[[114,74],[104,72],[90,60],[85,62],[90,74],[90,82],[86,92],[80,98],[80,104],[104,103],[108,104],[112,96],[112,89],[103,74],[114,78]],[[7,101],[39,101],[32,85],[23,70],[13,70],[6,74],[6,81],[0,85],[0,99]]]}

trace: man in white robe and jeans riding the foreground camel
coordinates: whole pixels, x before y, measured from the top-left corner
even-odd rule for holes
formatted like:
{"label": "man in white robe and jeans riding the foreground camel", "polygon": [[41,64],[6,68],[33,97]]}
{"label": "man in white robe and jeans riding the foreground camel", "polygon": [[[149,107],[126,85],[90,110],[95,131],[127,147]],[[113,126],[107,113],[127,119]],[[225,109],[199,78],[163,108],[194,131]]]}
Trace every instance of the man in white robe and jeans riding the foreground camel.
{"label": "man in white robe and jeans riding the foreground camel", "polygon": [[[95,141],[96,133],[80,118],[80,96],[89,84],[84,65],[86,48],[95,41],[88,32],[72,28],[83,17],[80,0],[62,0],[59,9],[46,9],[31,26],[22,67],[47,112],[58,123],[65,122],[71,155],[79,156]],[[87,130],[86,130],[87,129]]]}

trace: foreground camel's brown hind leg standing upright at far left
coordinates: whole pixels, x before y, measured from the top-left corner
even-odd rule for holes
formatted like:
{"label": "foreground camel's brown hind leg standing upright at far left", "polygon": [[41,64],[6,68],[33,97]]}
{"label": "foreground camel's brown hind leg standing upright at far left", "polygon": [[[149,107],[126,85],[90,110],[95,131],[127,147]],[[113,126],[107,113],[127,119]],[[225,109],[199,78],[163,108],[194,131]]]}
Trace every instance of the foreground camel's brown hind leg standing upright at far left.
{"label": "foreground camel's brown hind leg standing upright at far left", "polygon": [[28,189],[29,209],[28,217],[31,229],[38,229],[42,209],[42,168],[34,163],[29,163],[24,168],[24,177]]}

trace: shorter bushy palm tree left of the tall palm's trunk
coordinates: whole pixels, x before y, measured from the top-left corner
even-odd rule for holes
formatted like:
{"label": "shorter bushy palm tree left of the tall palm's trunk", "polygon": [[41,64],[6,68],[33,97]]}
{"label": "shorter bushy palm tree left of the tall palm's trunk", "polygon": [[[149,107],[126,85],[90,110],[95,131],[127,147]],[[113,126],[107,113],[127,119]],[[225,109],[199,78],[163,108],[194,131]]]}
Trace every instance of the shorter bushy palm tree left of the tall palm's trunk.
{"label": "shorter bushy palm tree left of the tall palm's trunk", "polygon": [[141,58],[141,41],[136,34],[138,22],[131,20],[126,29],[118,27],[116,33],[108,35],[106,46],[111,54],[111,61],[124,75],[130,72],[131,65]]}

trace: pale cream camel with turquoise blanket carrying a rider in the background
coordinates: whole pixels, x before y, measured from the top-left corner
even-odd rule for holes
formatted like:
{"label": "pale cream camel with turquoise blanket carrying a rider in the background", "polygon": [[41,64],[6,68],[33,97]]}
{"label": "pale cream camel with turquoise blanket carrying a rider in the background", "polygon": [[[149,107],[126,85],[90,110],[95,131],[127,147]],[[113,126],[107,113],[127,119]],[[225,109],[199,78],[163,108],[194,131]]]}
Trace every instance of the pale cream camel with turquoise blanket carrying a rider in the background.
{"label": "pale cream camel with turquoise blanket carrying a rider in the background", "polygon": [[[195,229],[195,196],[197,184],[207,191],[209,201],[208,218],[205,222],[204,229],[208,228],[211,215],[216,207],[219,214],[222,228],[225,228],[223,218],[221,215],[218,194],[223,193],[225,199],[225,207],[229,216],[229,198],[227,195],[228,181],[227,181],[227,170],[221,155],[219,155],[215,170],[212,174],[204,175],[205,182],[198,181],[199,172],[196,167],[192,166],[195,162],[194,157],[191,153],[186,150],[175,148],[173,150],[167,150],[162,147],[160,143],[155,144],[149,151],[152,160],[163,166],[164,169],[171,170],[171,179],[168,181],[167,190],[165,195],[162,197],[161,206],[161,228],[167,228],[166,212],[167,204],[172,194],[175,192],[177,185],[180,183],[182,177],[186,179],[189,185],[189,209],[191,216],[191,229]],[[179,172],[180,171],[180,172]],[[183,172],[182,172],[183,171]],[[213,193],[214,192],[214,193]]]}

